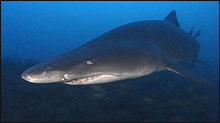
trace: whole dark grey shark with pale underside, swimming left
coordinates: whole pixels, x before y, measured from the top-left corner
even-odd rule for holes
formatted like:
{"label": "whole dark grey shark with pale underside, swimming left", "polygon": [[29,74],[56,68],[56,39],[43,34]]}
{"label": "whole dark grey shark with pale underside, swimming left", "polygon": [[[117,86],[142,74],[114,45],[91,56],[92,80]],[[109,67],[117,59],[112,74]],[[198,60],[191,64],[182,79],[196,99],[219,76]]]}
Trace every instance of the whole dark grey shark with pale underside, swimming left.
{"label": "whole dark grey shark with pale underside, swimming left", "polygon": [[197,59],[198,31],[192,35],[180,28],[176,11],[164,20],[128,23],[88,43],[43,61],[23,72],[31,83],[62,82],[88,85],[114,82],[170,70],[195,82],[204,82],[177,62]]}

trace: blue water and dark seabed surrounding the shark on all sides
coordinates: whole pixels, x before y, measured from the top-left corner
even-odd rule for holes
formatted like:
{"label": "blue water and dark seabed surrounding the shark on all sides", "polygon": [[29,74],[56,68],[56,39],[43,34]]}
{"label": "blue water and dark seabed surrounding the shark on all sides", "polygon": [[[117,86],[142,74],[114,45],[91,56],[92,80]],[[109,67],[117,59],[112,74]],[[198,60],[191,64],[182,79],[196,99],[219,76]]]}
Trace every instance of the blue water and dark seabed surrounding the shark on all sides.
{"label": "blue water and dark seabed surrounding the shark on all sides", "polygon": [[219,2],[1,2],[2,121],[219,121],[219,89],[170,71],[114,83],[32,84],[21,73],[104,32],[176,10],[201,29],[200,76],[219,83]]}

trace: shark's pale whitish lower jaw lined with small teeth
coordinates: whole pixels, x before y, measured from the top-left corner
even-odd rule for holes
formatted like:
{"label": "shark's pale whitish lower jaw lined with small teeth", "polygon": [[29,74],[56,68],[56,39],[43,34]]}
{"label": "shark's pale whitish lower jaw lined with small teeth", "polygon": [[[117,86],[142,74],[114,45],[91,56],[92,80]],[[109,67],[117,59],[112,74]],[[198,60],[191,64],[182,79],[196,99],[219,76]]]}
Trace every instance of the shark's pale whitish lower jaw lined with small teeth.
{"label": "shark's pale whitish lower jaw lined with small teeth", "polygon": [[72,80],[63,79],[65,84],[68,85],[90,85],[90,84],[102,84],[107,82],[113,82],[122,79],[122,75],[110,75],[110,74],[97,74],[93,76],[81,77]]}

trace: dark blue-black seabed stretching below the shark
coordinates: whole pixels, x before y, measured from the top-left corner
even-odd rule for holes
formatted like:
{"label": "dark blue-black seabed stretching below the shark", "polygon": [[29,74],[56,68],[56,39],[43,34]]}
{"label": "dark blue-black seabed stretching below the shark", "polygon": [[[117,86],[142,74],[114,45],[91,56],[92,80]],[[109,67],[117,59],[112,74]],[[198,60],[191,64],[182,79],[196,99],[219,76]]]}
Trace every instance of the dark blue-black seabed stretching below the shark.
{"label": "dark blue-black seabed stretching below the shark", "polygon": [[[22,80],[21,73],[35,63],[2,59],[2,121],[219,120],[219,90],[170,71],[90,86],[31,84]],[[204,75],[215,76],[219,82],[218,72]]]}

